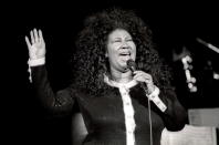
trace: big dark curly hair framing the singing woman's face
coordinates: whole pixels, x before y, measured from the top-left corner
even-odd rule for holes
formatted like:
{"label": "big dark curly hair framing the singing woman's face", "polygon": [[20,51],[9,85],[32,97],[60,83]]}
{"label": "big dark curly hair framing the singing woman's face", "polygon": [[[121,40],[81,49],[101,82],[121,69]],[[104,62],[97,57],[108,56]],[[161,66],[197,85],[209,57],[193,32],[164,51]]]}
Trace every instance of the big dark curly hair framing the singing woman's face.
{"label": "big dark curly hair framing the singing woman's face", "polygon": [[73,85],[97,96],[106,92],[108,86],[103,81],[104,74],[109,73],[106,41],[115,29],[124,29],[132,35],[137,48],[138,70],[152,74],[154,83],[164,93],[171,90],[169,69],[158,56],[150,29],[135,12],[119,8],[106,9],[85,19],[75,43]]}

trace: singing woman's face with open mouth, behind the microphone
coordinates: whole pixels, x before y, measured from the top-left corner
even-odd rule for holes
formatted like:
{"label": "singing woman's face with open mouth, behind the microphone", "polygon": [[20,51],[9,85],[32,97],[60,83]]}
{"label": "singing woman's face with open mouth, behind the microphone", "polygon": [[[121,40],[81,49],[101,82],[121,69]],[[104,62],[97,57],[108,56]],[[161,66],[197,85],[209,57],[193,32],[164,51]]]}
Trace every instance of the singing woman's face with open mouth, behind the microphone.
{"label": "singing woman's face with open mouth, behind the microphone", "polygon": [[131,34],[123,29],[116,29],[108,34],[106,56],[111,69],[124,71],[127,60],[136,58],[136,45]]}

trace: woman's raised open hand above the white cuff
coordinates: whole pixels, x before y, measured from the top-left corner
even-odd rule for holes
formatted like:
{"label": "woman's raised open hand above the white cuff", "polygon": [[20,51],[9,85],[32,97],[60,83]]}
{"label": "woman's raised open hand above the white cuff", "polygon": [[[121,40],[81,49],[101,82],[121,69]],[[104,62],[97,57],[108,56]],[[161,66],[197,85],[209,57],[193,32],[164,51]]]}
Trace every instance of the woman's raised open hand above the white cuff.
{"label": "woman's raised open hand above the white cuff", "polygon": [[31,41],[25,37],[25,42],[29,50],[30,60],[41,59],[45,56],[45,42],[43,40],[42,31],[33,29],[30,32]]}

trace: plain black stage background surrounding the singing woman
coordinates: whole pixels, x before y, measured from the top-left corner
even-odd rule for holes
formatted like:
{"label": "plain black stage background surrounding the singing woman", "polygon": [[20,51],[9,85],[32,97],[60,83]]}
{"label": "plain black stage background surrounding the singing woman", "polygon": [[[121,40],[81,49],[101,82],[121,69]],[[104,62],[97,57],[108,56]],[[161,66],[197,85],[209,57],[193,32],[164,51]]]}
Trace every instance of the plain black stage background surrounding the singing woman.
{"label": "plain black stage background surrounding the singing woman", "polygon": [[[2,27],[7,62],[7,82],[3,99],[7,132],[11,139],[21,144],[71,144],[71,116],[53,116],[41,106],[29,83],[28,49],[24,35],[33,28],[43,31],[46,43],[46,64],[54,90],[67,86],[71,77],[70,58],[74,52],[76,33],[84,18],[97,10],[119,6],[135,10],[154,32],[160,56],[173,68],[178,97],[186,108],[218,107],[219,54],[198,43],[200,38],[219,48],[218,1],[77,1],[77,2],[19,2],[7,3],[2,11]],[[11,7],[13,6],[13,7]],[[175,68],[173,50],[186,46],[192,55],[192,74],[198,92],[190,93],[185,86],[184,70]],[[4,76],[4,75],[3,75]],[[186,94],[186,96],[185,96]]]}

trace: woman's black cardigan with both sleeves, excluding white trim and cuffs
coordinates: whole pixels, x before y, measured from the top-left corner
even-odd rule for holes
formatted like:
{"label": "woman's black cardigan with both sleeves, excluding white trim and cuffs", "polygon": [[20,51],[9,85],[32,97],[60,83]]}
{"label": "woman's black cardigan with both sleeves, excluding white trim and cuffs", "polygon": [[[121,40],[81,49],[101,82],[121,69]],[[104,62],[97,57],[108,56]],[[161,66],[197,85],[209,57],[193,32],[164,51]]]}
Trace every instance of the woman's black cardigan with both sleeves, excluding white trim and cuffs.
{"label": "woman's black cardigan with both sleeves, excluding white trim and cuffs", "polygon": [[[86,91],[67,87],[53,92],[48,81],[45,65],[32,69],[33,86],[42,103],[53,112],[66,113],[73,110],[76,101],[88,132],[84,145],[126,145],[126,128],[123,102],[117,87],[109,87],[108,93],[91,97]],[[129,95],[135,111],[135,145],[149,145],[148,100],[137,84],[131,89]],[[159,97],[166,104],[163,113],[154,103],[152,110],[153,143],[160,144],[164,127],[179,131],[187,121],[187,113],[175,95]]]}

